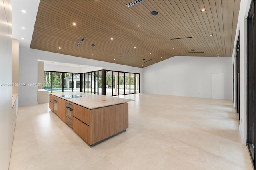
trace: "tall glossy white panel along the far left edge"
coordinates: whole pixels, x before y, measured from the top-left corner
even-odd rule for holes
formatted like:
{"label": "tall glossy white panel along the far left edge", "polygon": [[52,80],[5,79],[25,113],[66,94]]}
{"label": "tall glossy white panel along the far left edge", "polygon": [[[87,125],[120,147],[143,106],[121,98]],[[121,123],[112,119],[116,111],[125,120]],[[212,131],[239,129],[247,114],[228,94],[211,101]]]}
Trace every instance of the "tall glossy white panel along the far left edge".
{"label": "tall glossy white panel along the far left edge", "polygon": [[12,8],[0,0],[0,169],[8,169],[12,150]]}

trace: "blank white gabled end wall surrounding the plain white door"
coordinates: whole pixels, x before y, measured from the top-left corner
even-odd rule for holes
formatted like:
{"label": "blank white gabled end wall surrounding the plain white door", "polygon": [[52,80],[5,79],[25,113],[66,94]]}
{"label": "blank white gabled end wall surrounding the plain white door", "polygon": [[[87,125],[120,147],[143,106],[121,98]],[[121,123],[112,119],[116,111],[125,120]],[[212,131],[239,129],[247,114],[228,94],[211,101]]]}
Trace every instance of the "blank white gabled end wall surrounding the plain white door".
{"label": "blank white gabled end wall surrounding the plain white door", "polygon": [[175,56],[143,69],[143,93],[211,98],[212,73],[224,73],[224,99],[232,99],[231,57]]}

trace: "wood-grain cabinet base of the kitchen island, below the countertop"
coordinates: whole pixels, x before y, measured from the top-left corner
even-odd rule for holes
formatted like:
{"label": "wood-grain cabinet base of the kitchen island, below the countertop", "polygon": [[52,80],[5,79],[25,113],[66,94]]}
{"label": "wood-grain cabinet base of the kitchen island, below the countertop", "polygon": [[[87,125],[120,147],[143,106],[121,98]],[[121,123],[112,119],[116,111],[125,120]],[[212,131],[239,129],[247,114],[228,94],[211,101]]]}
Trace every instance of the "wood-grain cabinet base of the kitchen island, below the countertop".
{"label": "wood-grain cabinet base of the kitchen island, below the countertop", "polygon": [[[56,97],[55,94],[54,97]],[[53,103],[51,102],[53,99],[52,94],[50,94],[49,99],[49,107],[51,109],[51,103]],[[116,134],[124,132],[128,128],[128,103],[123,102],[125,100],[119,99],[122,102],[114,105],[94,107],[90,109],[74,103],[76,100],[73,99],[73,101],[71,101],[58,97],[57,115],[60,117],[60,119],[62,119],[62,121],[66,122],[66,103],[72,104],[73,130],[91,146],[115,136]],[[86,101],[86,98],[83,100]],[[100,102],[105,100],[101,100],[99,96],[98,101]],[[53,109],[51,110],[53,111]]]}

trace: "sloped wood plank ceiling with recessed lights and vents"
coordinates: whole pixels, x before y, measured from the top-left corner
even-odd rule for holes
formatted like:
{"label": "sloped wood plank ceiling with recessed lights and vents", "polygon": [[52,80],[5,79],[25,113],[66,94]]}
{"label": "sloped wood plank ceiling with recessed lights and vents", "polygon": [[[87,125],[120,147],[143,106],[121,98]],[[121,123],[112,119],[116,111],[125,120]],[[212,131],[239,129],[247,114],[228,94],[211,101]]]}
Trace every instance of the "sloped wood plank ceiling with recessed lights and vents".
{"label": "sloped wood plank ceiling with recessed lights and vents", "polygon": [[30,48],[140,68],[173,56],[232,56],[240,1],[130,2],[41,0]]}

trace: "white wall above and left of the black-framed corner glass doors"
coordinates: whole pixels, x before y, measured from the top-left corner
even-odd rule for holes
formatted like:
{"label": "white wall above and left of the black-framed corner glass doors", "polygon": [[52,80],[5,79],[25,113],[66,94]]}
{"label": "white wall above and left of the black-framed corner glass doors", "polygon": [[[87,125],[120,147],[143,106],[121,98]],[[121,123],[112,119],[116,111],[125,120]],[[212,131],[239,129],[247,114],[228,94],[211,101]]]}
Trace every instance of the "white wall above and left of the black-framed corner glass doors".
{"label": "white wall above and left of the black-framed corner glass doors", "polygon": [[[51,53],[47,51],[40,51],[36,49],[29,49],[26,47],[20,47],[20,60],[19,60],[19,83],[22,85],[19,86],[19,105],[36,105],[37,104],[37,87],[34,86],[25,86],[23,84],[33,84],[37,83],[37,60],[47,60],[47,61],[56,61],[62,63],[72,63],[77,65],[90,65],[93,67],[101,67],[103,69],[114,70],[114,71],[126,71],[131,73],[142,73],[141,68],[130,67],[120,64],[108,63],[103,61],[96,61],[92,59],[85,59],[81,57],[74,57],[70,55],[63,55],[58,53]],[[65,68],[65,67],[64,67]],[[59,67],[59,69],[64,69]],[[90,70],[83,68],[82,71]],[[49,69],[46,68],[45,69]],[[66,67],[65,71],[68,68]],[[52,70],[48,70],[52,71]],[[61,70],[55,70],[61,71]],[[92,71],[92,70],[90,70]],[[72,71],[73,72],[73,71]]]}

